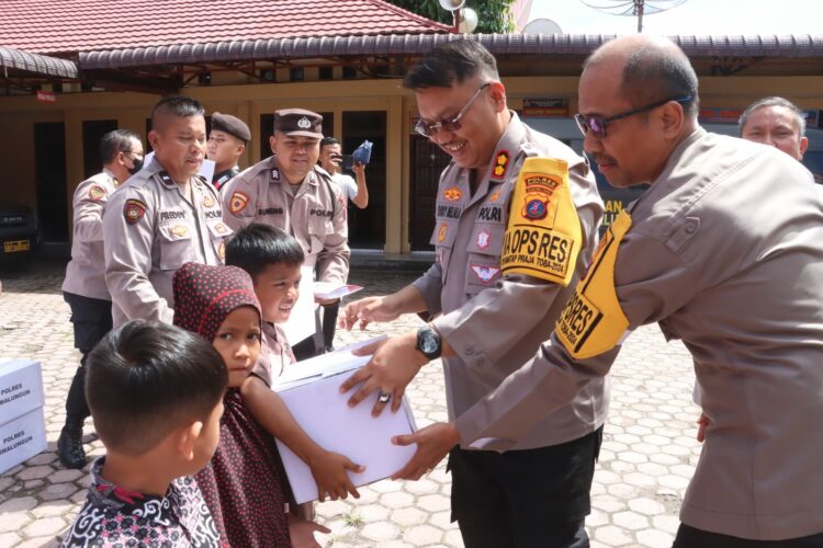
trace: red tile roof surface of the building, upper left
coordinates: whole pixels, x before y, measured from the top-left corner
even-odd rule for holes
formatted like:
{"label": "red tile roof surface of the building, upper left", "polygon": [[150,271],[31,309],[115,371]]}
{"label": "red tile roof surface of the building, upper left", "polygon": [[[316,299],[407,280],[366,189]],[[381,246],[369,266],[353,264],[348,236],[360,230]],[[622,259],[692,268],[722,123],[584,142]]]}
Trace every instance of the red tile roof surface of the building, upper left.
{"label": "red tile roof surface of the building, upper left", "polygon": [[0,9],[0,46],[41,54],[448,30],[382,0],[3,0]]}

